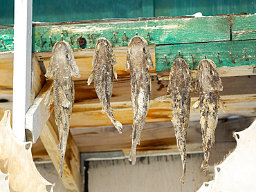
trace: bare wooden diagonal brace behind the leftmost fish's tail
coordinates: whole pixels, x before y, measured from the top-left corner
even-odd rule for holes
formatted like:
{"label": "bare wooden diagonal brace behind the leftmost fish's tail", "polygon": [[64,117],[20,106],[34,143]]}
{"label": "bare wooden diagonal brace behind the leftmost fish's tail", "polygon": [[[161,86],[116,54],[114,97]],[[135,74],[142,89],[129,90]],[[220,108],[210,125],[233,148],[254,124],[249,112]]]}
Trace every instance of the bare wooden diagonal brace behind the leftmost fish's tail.
{"label": "bare wooden diagonal brace behind the leftmost fish's tail", "polygon": [[[40,139],[46,148],[46,151],[51,158],[56,170],[60,166],[60,151],[57,148],[59,144],[57,125],[55,124],[54,115],[46,123],[42,129]],[[77,148],[71,134],[68,135],[68,143],[66,155],[63,164],[62,182],[66,191],[82,192],[82,175],[80,173],[80,151]]]}

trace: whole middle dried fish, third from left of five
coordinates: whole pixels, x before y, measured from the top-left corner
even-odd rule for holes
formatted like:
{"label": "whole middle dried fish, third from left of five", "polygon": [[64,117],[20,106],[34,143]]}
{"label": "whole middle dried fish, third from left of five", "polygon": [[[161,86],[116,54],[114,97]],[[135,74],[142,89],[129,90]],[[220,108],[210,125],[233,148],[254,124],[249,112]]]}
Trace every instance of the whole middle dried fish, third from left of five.
{"label": "whole middle dried fish, third from left of five", "polygon": [[128,44],[125,70],[130,70],[131,106],[134,117],[132,124],[132,144],[129,161],[136,162],[136,146],[140,144],[140,133],[143,130],[151,95],[151,81],[148,69],[153,69],[153,61],[147,48],[147,41],[135,36]]}

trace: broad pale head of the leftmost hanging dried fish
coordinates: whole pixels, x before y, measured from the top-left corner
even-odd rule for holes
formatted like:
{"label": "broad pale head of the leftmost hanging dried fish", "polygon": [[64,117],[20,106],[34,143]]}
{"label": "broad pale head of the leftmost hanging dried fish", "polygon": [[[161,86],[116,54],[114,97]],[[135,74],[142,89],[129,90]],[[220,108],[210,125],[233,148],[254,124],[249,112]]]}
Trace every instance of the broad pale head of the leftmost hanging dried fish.
{"label": "broad pale head of the leftmost hanging dried fish", "polygon": [[46,77],[52,77],[55,70],[60,70],[64,77],[71,77],[72,75],[79,78],[80,71],[73,56],[73,50],[66,41],[57,41],[53,46],[53,56],[51,57]]}

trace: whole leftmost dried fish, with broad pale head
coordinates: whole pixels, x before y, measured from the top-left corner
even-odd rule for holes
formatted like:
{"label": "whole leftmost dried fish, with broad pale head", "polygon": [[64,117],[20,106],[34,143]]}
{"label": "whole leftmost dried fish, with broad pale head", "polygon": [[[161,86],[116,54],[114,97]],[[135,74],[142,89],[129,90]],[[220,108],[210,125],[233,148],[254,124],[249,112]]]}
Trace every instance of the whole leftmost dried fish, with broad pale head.
{"label": "whole leftmost dried fish, with broad pale head", "polygon": [[58,41],[53,46],[53,56],[46,72],[46,78],[53,77],[53,92],[46,103],[54,101],[55,122],[58,126],[61,160],[59,173],[62,177],[69,124],[75,99],[74,82],[71,76],[80,77],[73,50],[66,41]]}

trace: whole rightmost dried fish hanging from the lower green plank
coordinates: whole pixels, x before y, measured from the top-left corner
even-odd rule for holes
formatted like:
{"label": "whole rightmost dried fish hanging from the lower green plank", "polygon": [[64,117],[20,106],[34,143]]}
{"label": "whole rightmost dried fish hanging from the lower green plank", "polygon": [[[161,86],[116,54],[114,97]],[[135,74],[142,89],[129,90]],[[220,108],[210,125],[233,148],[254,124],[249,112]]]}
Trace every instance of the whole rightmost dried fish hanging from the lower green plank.
{"label": "whole rightmost dried fish hanging from the lower green plank", "polygon": [[204,161],[201,165],[203,171],[208,171],[210,148],[214,147],[214,133],[218,124],[218,104],[223,112],[224,105],[219,97],[219,91],[223,90],[221,79],[216,65],[210,59],[203,59],[198,66],[195,91],[200,93],[199,99],[194,103],[193,110],[200,106],[200,124],[203,139]]}

